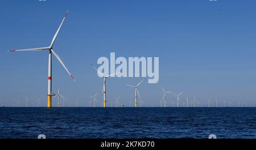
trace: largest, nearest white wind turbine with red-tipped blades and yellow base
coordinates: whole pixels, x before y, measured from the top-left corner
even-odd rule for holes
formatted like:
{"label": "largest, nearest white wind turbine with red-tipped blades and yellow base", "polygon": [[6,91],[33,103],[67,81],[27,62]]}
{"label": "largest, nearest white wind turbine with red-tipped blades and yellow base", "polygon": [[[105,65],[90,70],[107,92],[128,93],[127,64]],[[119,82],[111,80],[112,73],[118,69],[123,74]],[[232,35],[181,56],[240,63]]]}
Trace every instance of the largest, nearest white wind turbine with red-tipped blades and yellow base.
{"label": "largest, nearest white wind turbine with red-tipped blades and yellow base", "polygon": [[55,33],[55,35],[52,38],[52,42],[51,45],[49,45],[48,47],[43,47],[43,48],[33,48],[33,49],[20,49],[20,50],[9,50],[9,52],[23,52],[23,51],[39,51],[39,50],[48,50],[49,54],[48,54],[48,108],[52,107],[52,96],[54,96],[54,93],[52,93],[52,53],[53,55],[55,55],[55,57],[58,59],[58,61],[61,63],[61,65],[65,68],[65,70],[68,72],[68,74],[71,76],[71,78],[75,81],[75,79],[73,78],[73,76],[71,75],[71,73],[68,71],[67,67],[64,65],[63,61],[61,61],[59,55],[52,49],[52,46],[56,40],[56,37],[60,31],[60,28],[65,20],[65,18],[68,15],[68,11],[66,12],[59,28],[57,29],[57,32]]}

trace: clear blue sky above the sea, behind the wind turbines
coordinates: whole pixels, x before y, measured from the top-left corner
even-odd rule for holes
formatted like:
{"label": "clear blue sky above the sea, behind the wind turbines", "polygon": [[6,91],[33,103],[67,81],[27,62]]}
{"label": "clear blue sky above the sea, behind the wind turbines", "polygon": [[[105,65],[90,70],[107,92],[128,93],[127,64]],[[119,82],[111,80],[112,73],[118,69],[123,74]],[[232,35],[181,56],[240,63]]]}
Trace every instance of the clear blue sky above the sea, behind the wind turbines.
{"label": "clear blue sky above the sea, behind the wind turbines", "polygon": [[[90,63],[99,57],[159,57],[159,82],[139,87],[144,106],[159,106],[162,85],[181,92],[181,104],[196,95],[207,104],[217,97],[237,106],[256,105],[256,2],[255,1],[1,1],[0,2],[0,104],[25,106],[40,98],[47,106],[47,52],[7,50],[48,46],[66,10],[69,10],[54,48],[73,82],[53,57],[53,92],[67,97],[67,105],[89,105],[102,78]],[[121,96],[129,106],[134,90],[123,85],[142,78],[107,80],[107,105]],[[171,106],[173,95],[167,96]],[[98,106],[100,106],[98,102]],[[212,105],[213,101],[212,101]],[[56,98],[53,100],[56,106]]]}

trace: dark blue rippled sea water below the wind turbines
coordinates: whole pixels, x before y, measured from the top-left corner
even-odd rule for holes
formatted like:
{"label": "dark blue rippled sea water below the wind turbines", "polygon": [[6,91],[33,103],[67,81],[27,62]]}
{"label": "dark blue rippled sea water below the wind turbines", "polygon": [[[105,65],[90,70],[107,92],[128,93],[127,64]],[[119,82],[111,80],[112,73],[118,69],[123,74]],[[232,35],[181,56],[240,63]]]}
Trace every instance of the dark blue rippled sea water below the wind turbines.
{"label": "dark blue rippled sea water below the wind turbines", "polygon": [[0,138],[256,138],[256,108],[0,108]]}

